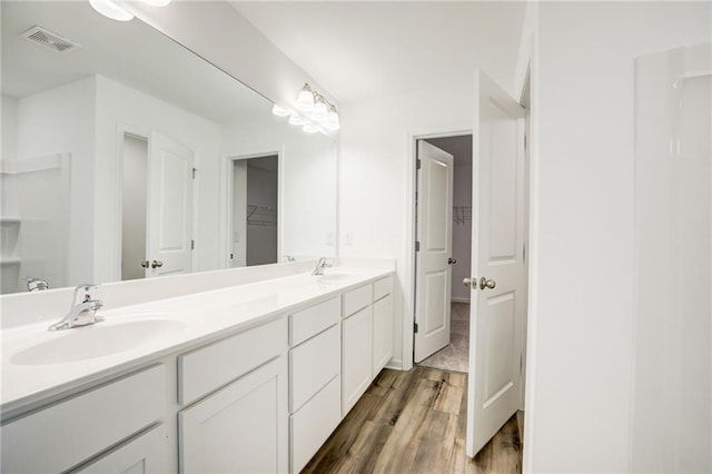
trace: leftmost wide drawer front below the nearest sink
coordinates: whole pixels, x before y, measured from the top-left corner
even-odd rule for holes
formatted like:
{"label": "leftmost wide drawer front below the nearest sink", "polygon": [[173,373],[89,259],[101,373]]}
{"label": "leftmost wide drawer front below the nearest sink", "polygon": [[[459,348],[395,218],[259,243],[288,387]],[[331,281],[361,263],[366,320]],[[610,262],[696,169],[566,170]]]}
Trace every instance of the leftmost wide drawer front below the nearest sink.
{"label": "leftmost wide drawer front below the nearest sink", "polygon": [[1,471],[66,471],[165,412],[166,368],[159,365],[3,425]]}

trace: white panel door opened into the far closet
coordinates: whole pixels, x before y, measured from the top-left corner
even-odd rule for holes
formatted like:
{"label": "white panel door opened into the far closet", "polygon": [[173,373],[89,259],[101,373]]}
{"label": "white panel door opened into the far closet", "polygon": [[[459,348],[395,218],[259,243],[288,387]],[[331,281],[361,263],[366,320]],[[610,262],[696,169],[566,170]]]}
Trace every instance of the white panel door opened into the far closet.
{"label": "white panel door opened into the far closet", "polygon": [[449,344],[453,156],[418,141],[414,361]]}

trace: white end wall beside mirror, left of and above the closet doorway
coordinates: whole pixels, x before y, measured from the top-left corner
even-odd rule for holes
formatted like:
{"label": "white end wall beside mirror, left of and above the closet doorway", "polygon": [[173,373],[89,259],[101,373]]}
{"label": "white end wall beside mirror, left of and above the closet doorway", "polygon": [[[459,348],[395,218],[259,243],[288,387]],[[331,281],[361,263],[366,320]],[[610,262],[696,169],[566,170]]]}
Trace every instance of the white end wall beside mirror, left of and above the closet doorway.
{"label": "white end wall beside mirror, left of and above the closet doorway", "polygon": [[339,255],[395,257],[394,358],[413,363],[414,136],[472,127],[472,78],[452,88],[342,103]]}

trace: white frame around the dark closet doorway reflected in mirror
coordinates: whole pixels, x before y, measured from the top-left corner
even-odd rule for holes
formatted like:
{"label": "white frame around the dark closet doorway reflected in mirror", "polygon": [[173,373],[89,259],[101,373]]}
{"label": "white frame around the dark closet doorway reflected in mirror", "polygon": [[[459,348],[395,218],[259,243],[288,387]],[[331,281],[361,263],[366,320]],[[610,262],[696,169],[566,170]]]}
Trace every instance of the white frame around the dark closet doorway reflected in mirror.
{"label": "white frame around the dark closet doorway reflected in mirror", "polygon": [[[220,211],[221,223],[219,226],[221,229],[220,233],[220,249],[222,250],[222,256],[220,257],[220,263],[224,268],[231,268],[230,265],[230,253],[231,253],[231,239],[228,238],[228,230],[233,229],[233,171],[234,171],[234,162],[243,161],[253,158],[266,158],[266,157],[277,157],[277,263],[281,259],[283,255],[283,246],[284,246],[284,226],[283,226],[283,213],[280,209],[284,209],[284,195],[281,192],[281,182],[284,179],[284,152],[281,150],[274,151],[258,151],[254,154],[227,154],[222,158],[222,199]],[[245,236],[247,238],[247,236]]]}

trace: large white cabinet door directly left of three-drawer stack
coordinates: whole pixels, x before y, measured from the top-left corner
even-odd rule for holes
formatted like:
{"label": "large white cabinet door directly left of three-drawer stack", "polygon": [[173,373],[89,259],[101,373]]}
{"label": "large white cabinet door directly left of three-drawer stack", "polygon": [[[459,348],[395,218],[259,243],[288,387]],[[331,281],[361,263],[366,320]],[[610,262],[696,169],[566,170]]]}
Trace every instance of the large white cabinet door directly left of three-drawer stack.
{"label": "large white cabinet door directly left of three-drawer stack", "polygon": [[287,471],[287,359],[279,357],[180,412],[180,472]]}

